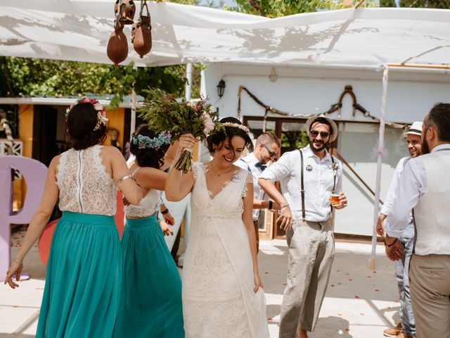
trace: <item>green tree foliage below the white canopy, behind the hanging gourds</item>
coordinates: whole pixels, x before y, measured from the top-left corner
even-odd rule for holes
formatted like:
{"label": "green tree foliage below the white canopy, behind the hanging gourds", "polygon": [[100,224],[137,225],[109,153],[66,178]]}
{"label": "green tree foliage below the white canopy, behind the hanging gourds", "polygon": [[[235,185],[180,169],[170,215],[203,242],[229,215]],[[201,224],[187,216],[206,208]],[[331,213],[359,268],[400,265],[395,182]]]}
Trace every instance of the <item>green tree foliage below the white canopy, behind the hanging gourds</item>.
{"label": "green tree foliage below the white canopy, behind the hanging gourds", "polygon": [[174,95],[184,93],[185,66],[137,69],[99,63],[1,57],[1,96],[68,96],[112,94],[113,106],[131,93],[158,87]]}

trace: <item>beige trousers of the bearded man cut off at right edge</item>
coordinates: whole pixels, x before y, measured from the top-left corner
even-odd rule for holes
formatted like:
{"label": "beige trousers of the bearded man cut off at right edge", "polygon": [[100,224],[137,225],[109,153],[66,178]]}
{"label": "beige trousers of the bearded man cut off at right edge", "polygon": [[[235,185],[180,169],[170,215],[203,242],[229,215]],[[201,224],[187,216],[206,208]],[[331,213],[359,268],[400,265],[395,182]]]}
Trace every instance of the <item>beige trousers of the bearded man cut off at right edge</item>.
{"label": "beige trousers of the bearded man cut off at right edge", "polygon": [[417,338],[450,338],[450,255],[413,253],[409,287]]}

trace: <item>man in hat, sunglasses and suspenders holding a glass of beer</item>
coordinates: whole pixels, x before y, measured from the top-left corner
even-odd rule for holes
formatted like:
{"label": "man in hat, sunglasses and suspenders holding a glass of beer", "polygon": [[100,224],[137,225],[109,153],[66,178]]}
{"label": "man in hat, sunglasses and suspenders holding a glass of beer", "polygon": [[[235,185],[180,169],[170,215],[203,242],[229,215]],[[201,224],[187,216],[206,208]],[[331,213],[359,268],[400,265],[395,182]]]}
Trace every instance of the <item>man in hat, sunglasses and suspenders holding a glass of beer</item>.
{"label": "man in hat, sunglasses and suspenders holding a glass of beer", "polygon": [[[342,192],[342,165],[328,154],[338,126],[324,115],[306,123],[309,144],[288,151],[259,176],[264,191],[280,204],[280,227],[288,242],[288,283],[281,304],[280,338],[308,337],[319,311],[335,254],[330,195],[340,192],[333,208],[347,206]],[[281,182],[283,194],[274,182]]]}

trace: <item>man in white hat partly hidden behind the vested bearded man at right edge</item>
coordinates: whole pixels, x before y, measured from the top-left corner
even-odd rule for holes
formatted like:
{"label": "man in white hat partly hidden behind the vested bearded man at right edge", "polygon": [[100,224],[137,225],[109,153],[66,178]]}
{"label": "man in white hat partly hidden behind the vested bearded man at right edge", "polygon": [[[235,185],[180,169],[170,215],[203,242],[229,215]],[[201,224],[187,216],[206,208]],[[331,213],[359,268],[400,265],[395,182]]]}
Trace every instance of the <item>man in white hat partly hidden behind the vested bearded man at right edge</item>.
{"label": "man in white hat partly hidden behind the vested bearded man at right edge", "polygon": [[[380,236],[384,235],[384,220],[387,215],[395,213],[392,210],[392,204],[395,200],[395,190],[399,186],[399,178],[403,171],[404,165],[411,159],[421,154],[422,142],[422,123],[414,122],[408,131],[405,132],[406,143],[410,156],[401,158],[395,168],[394,176],[387,190],[385,204],[381,208],[380,217],[378,218],[376,231]],[[392,239],[393,240],[393,239]],[[385,242],[386,252],[389,252],[392,240]],[[399,287],[400,300],[400,322],[395,327],[386,329],[383,334],[386,337],[411,338],[416,335],[416,325],[414,324],[413,307],[411,306],[411,293],[409,292],[409,261],[413,253],[414,246],[414,223],[413,218],[409,222],[406,230],[399,237],[401,244],[404,246],[405,256],[399,261],[394,262],[394,275],[397,279]],[[391,245],[391,246],[389,246]]]}

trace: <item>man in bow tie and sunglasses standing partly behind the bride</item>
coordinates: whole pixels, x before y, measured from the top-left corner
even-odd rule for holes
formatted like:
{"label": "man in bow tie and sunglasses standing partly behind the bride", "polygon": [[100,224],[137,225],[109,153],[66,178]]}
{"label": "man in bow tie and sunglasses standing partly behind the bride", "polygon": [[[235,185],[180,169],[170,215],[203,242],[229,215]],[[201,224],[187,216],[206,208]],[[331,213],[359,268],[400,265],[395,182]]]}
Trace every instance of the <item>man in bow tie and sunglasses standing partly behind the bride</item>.
{"label": "man in bow tie and sunglasses standing partly behind the bride", "polygon": [[240,158],[234,164],[248,170],[253,175],[253,225],[255,225],[256,249],[259,251],[259,211],[262,208],[278,210],[280,206],[274,201],[264,199],[264,191],[258,185],[259,175],[266,169],[269,161],[274,161],[280,151],[280,140],[271,132],[260,134],[256,140],[255,150],[248,156]]}

